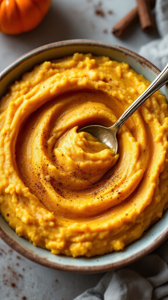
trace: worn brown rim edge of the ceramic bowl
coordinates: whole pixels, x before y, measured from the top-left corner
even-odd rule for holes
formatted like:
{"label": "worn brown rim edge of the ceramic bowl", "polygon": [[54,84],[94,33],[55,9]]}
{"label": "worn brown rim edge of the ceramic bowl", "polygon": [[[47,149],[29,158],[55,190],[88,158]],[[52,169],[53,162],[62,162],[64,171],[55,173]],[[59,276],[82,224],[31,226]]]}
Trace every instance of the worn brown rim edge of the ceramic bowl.
{"label": "worn brown rim edge of the ceramic bowl", "polygon": [[[24,55],[20,56],[16,60],[14,60],[11,64],[9,64],[1,73],[0,73],[0,81],[7,76],[11,71],[13,71],[16,67],[18,67],[23,62],[35,57],[36,55],[46,52],[51,49],[56,49],[60,47],[66,47],[66,46],[97,46],[101,48],[109,48],[114,49],[116,51],[119,51],[123,54],[126,54],[130,56],[131,58],[136,58],[136,61],[138,61],[142,65],[146,65],[149,69],[154,71],[156,75],[160,73],[160,70],[152,64],[150,61],[148,61],[146,58],[143,58],[139,54],[133,52],[132,50],[129,50],[123,46],[119,46],[116,44],[112,44],[105,41],[97,41],[97,40],[89,40],[89,39],[75,39],[75,40],[65,40],[65,41],[59,41],[54,42],[51,44],[46,44],[43,46],[40,46],[38,48],[35,48]],[[13,229],[12,229],[13,230]],[[18,253],[22,254],[26,258],[39,263],[40,265],[44,265],[49,268],[62,270],[62,271],[71,271],[76,273],[99,273],[99,272],[106,272],[112,269],[125,267],[126,265],[129,265],[147,254],[151,253],[153,250],[155,250],[158,246],[160,246],[167,238],[168,238],[168,228],[156,238],[153,243],[151,243],[148,247],[146,247],[143,250],[137,251],[133,256],[129,258],[125,258],[122,261],[119,262],[111,262],[106,263],[103,265],[93,265],[93,266],[76,266],[74,265],[62,265],[56,262],[49,261],[45,257],[39,257],[38,255],[28,252],[28,250],[25,250],[21,245],[19,245],[16,241],[14,241],[7,233],[3,231],[3,229],[0,227],[0,237],[2,240],[4,240],[11,248],[16,250]],[[53,254],[54,255],[54,254]],[[92,258],[92,257],[91,257]],[[90,259],[91,259],[90,258]],[[74,258],[75,260],[78,258]]]}

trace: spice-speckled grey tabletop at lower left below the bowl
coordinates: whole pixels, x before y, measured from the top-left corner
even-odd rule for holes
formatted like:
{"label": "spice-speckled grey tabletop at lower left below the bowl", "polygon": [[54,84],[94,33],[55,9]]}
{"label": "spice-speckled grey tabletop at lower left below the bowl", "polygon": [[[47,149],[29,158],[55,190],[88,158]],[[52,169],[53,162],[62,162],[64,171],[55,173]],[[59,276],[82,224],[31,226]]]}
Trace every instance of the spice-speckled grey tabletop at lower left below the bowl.
{"label": "spice-speckled grey tabletop at lower left below the bowl", "polygon": [[[71,274],[53,270],[18,255],[1,241],[0,247],[1,299],[7,300],[53,300],[73,299],[91,285],[96,285],[102,274]],[[71,277],[71,280],[70,280]],[[75,285],[76,289],[71,289]],[[83,286],[84,282],[84,286]],[[15,283],[13,287],[11,283]],[[66,292],[68,290],[68,296]],[[40,293],[40,297],[39,297]]]}

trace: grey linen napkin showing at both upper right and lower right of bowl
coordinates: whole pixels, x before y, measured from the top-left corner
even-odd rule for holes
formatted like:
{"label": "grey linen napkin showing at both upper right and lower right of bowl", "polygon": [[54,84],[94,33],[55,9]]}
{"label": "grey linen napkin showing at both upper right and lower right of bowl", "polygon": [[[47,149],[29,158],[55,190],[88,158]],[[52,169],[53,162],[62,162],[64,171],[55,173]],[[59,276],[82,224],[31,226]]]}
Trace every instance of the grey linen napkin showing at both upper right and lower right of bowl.
{"label": "grey linen napkin showing at both upper right and lower right of bowl", "polygon": [[[157,0],[156,26],[161,38],[139,54],[162,70],[168,62],[168,0]],[[138,262],[106,273],[97,286],[74,300],[168,300],[168,240]]]}

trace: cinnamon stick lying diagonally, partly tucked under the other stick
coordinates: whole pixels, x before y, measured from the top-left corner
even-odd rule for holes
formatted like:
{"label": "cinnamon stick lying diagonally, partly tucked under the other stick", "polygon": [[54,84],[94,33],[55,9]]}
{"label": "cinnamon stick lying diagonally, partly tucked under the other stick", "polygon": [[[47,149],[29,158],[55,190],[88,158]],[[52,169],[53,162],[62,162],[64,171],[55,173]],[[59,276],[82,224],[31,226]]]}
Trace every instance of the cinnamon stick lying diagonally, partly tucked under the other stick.
{"label": "cinnamon stick lying diagonally, partly tucked under the other stick", "polygon": [[[155,6],[155,0],[148,0],[151,9]],[[116,37],[121,37],[138,20],[138,6],[126,14],[112,29]]]}

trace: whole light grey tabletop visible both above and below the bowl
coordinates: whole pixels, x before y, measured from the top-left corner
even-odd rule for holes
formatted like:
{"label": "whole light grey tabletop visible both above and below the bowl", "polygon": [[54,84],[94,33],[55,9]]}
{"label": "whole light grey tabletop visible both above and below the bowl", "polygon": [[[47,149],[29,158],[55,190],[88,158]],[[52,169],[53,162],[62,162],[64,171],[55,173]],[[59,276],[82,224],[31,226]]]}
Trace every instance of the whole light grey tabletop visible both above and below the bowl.
{"label": "whole light grey tabletop visible both above and below the bowl", "polygon": [[[36,47],[67,39],[97,39],[119,44],[135,52],[158,38],[156,31],[143,33],[139,24],[122,38],[111,30],[135,0],[53,0],[43,22],[33,31],[8,36],[0,33],[0,71],[20,55]],[[96,14],[96,10],[104,16]],[[110,13],[112,11],[112,13]],[[96,285],[103,274],[74,274],[52,270],[20,256],[0,240],[0,300],[72,300]]]}

